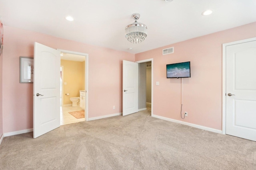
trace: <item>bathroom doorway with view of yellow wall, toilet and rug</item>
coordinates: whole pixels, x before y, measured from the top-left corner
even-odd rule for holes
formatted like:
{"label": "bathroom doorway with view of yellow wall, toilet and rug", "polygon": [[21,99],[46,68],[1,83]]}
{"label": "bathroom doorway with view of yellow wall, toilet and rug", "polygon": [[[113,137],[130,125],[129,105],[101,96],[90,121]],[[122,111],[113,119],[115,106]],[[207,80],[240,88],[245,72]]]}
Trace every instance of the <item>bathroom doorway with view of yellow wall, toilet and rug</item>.
{"label": "bathroom doorway with view of yellow wall, toilet and rug", "polygon": [[[88,72],[86,72],[88,70],[88,63],[86,62],[88,55],[81,55],[72,51],[60,51],[60,125],[85,121],[88,117],[88,113],[86,113],[88,111],[88,107],[86,108],[88,106],[86,100],[88,96],[86,94],[88,90],[88,81],[86,81],[88,80]],[[83,92],[82,100],[80,100],[80,91]],[[70,98],[76,98],[75,102],[74,100],[72,102]]]}

